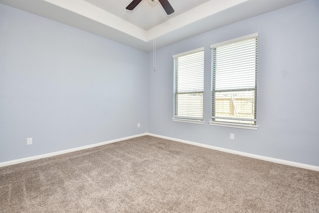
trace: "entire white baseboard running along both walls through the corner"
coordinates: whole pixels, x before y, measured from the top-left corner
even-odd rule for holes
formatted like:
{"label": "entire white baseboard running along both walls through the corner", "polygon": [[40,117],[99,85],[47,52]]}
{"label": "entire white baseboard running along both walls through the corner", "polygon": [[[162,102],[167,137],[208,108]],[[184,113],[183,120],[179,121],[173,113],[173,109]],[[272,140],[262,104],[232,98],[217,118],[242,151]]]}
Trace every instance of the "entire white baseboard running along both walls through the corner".
{"label": "entire white baseboard running along both walls through the corner", "polygon": [[236,150],[225,149],[225,148],[221,148],[221,147],[217,147],[217,146],[196,143],[196,142],[182,140],[182,139],[178,139],[178,138],[166,137],[166,136],[153,134],[153,133],[143,133],[143,134],[138,134],[138,135],[132,135],[132,136],[128,136],[128,137],[109,140],[109,141],[105,141],[105,142],[101,142],[101,143],[90,144],[90,145],[76,147],[76,148],[72,148],[72,149],[66,149],[66,150],[51,152],[51,153],[42,154],[42,155],[36,155],[36,156],[31,156],[31,157],[26,157],[26,158],[11,160],[11,161],[0,162],[0,167],[9,166],[9,165],[18,164],[18,163],[23,163],[23,162],[31,161],[31,160],[37,160],[37,159],[41,159],[41,158],[52,157],[55,155],[61,155],[61,154],[74,152],[74,151],[78,151],[78,150],[93,148],[96,146],[102,146],[105,144],[114,143],[114,142],[127,140],[127,139],[131,139],[131,138],[135,138],[135,137],[140,137],[140,136],[144,136],[144,135],[150,135],[150,136],[154,136],[154,137],[173,140],[173,141],[177,141],[177,142],[181,142],[181,143],[187,143],[187,144],[200,146],[200,147],[204,147],[204,148],[208,148],[208,149],[214,149],[214,150],[218,150],[218,151],[222,151],[222,152],[228,152],[228,153],[232,153],[232,154],[242,155],[242,156],[246,156],[246,157],[256,158],[256,159],[270,161],[270,162],[279,163],[279,164],[284,164],[284,165],[288,165],[288,166],[295,166],[295,167],[299,167],[299,168],[319,171],[319,166],[313,166],[313,165],[309,165],[309,164],[303,164],[303,163],[297,163],[297,162],[293,162],[293,161],[281,160],[281,159],[277,159],[277,158],[265,157],[262,155],[255,155],[255,154],[250,154],[247,152],[240,152],[240,151],[236,151]]}

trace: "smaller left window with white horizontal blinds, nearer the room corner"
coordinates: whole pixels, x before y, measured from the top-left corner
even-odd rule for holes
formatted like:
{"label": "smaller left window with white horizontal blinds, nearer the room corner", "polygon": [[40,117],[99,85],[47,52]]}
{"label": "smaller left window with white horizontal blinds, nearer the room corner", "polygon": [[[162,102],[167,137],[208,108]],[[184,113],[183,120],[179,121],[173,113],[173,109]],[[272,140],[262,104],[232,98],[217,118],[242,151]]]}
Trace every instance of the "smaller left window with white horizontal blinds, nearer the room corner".
{"label": "smaller left window with white horizontal blinds, nearer the room corner", "polygon": [[173,121],[203,122],[204,48],[173,55]]}

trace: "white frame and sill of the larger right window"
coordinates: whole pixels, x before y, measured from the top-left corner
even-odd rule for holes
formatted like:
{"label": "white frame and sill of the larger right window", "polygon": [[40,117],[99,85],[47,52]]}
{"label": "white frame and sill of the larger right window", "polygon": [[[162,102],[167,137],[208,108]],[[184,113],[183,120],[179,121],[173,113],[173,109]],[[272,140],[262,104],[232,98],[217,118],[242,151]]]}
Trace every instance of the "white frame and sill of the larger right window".
{"label": "white frame and sill of the larger right window", "polygon": [[[240,41],[245,41],[245,40],[248,40],[248,39],[252,39],[252,38],[258,38],[258,33],[252,33],[252,34],[249,34],[249,35],[245,35],[245,36],[241,36],[241,37],[238,37],[238,38],[234,38],[234,39],[231,39],[231,40],[227,40],[227,41],[223,41],[223,42],[219,42],[219,43],[216,43],[216,44],[212,44],[210,45],[210,48],[211,48],[211,54],[212,54],[212,57],[213,57],[213,49],[217,48],[217,47],[221,47],[221,46],[225,46],[225,45],[229,45],[229,44],[232,44],[232,43],[236,43],[236,42],[240,42]],[[257,40],[256,40],[257,42]],[[257,43],[256,43],[256,47],[257,47]],[[256,51],[256,54],[257,54],[257,51]],[[256,58],[258,59],[258,55],[256,55]],[[226,126],[226,127],[234,127],[234,128],[244,128],[244,129],[254,129],[254,130],[257,130],[258,129],[258,125],[257,125],[257,119],[256,119],[256,115],[257,115],[257,61],[256,61],[256,73],[255,73],[255,88],[251,88],[252,90],[255,91],[255,95],[254,95],[254,105],[255,105],[255,111],[254,111],[254,119],[242,119],[242,120],[251,120],[251,121],[254,121],[255,123],[254,124],[247,124],[247,123],[236,123],[236,122],[230,122],[229,120],[231,120],[232,118],[228,117],[228,122],[227,121],[216,121],[215,120],[215,116],[214,116],[214,111],[213,111],[213,106],[214,106],[214,103],[215,103],[215,100],[214,100],[214,87],[215,87],[215,78],[214,78],[214,61],[213,61],[213,58],[211,59],[211,121],[209,121],[208,123],[210,125],[215,125],[215,126]],[[227,89],[224,91],[226,92]],[[230,89],[228,91],[231,91]],[[237,91],[244,91],[244,89],[241,89],[241,90],[237,90]],[[215,109],[216,110],[216,109]],[[217,118],[218,119],[218,118]],[[219,117],[219,119],[222,119]],[[227,118],[226,118],[227,120]],[[234,120],[241,120],[241,118],[237,118],[237,119],[234,119]]]}

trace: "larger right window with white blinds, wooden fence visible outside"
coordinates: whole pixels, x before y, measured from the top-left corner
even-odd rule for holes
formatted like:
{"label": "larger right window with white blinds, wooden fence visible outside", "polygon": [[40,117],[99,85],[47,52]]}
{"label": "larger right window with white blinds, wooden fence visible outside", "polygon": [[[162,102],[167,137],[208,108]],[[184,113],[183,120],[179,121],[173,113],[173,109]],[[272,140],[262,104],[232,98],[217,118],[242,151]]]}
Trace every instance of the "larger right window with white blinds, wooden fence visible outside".
{"label": "larger right window with white blinds, wooden fence visible outside", "polygon": [[258,33],[211,45],[211,125],[257,129]]}

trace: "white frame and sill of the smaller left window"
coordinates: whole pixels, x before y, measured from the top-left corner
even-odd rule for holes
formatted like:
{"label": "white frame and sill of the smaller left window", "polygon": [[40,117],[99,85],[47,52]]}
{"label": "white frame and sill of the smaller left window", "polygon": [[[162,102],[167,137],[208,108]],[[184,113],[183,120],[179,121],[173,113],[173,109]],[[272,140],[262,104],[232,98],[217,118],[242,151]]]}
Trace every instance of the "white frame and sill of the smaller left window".
{"label": "white frame and sill of the smaller left window", "polygon": [[[177,89],[178,89],[178,79],[176,79],[177,75],[176,75],[176,72],[178,70],[176,70],[176,64],[175,64],[175,59],[178,58],[178,57],[182,57],[182,56],[187,56],[187,55],[190,55],[190,54],[193,54],[193,53],[198,53],[198,52],[202,52],[202,90],[187,90],[187,92],[178,92]],[[172,56],[173,58],[173,67],[174,67],[174,71],[173,71],[173,117],[171,118],[172,121],[178,121],[178,122],[187,122],[187,123],[197,123],[197,124],[204,124],[204,107],[203,107],[203,98],[204,98],[204,47],[200,47],[200,48],[197,48],[197,49],[193,49],[193,50],[189,50],[189,51],[186,51],[186,52],[182,52],[182,53],[179,53],[179,54],[175,54]],[[191,116],[178,116],[177,115],[177,108],[176,108],[176,95],[177,94],[191,94],[191,93],[201,93],[202,94],[202,117],[191,117]]]}

